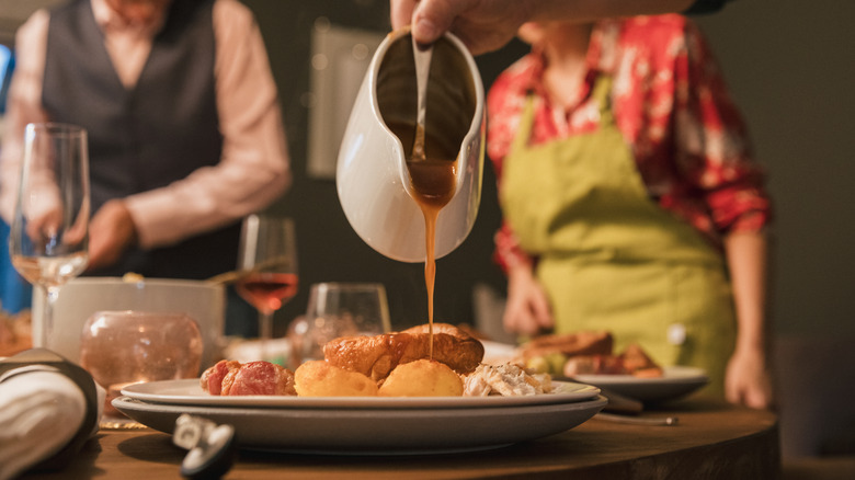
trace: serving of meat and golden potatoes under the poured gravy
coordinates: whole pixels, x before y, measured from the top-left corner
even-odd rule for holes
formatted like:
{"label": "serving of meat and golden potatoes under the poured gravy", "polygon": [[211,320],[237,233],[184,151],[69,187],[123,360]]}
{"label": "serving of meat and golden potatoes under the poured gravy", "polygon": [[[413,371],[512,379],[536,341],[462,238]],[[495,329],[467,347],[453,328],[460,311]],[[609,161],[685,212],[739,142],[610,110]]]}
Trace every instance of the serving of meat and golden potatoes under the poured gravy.
{"label": "serving of meat and golden potatoes under the poured gravy", "polygon": [[[400,333],[376,335],[373,339],[378,339],[375,340],[377,343],[362,342],[358,345],[365,350],[351,347],[345,356],[333,356],[332,362],[330,358],[306,362],[293,374],[267,362],[220,361],[203,373],[200,384],[204,391],[215,396],[486,397],[552,391],[548,376],[536,375],[522,365],[481,364],[483,345],[455,327],[440,323],[434,329],[434,334],[445,340],[435,343],[435,348],[437,344],[442,345],[438,350],[442,355],[437,356],[435,350],[432,359],[424,344],[426,325],[419,325]],[[327,346],[340,348],[342,344],[346,342],[335,339]],[[377,344],[386,346],[380,350]],[[334,362],[356,358],[356,353],[369,358],[350,364]],[[383,367],[374,368],[378,364]],[[363,373],[387,369],[388,375],[381,378],[371,378]]]}

